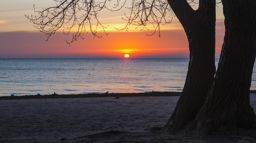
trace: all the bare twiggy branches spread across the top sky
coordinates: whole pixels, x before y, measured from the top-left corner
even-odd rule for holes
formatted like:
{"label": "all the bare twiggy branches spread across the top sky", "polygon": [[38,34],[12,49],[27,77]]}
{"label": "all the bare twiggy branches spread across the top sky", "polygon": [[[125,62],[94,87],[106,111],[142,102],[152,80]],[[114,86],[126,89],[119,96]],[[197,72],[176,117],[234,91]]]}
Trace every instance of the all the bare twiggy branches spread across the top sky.
{"label": "all the bare twiggy branches spread across the top sky", "polygon": [[[79,38],[84,39],[84,33],[92,33],[94,37],[97,31],[103,31],[106,35],[106,28],[98,19],[99,12],[102,9],[109,11],[118,11],[121,8],[130,10],[129,14],[124,13],[122,18],[126,25],[117,30],[128,31],[129,25],[135,25],[136,29],[146,29],[148,25],[155,28],[153,34],[159,31],[160,25],[171,23],[172,17],[175,16],[167,0],[53,0],[56,6],[35,10],[37,15],[27,16],[36,27],[47,35],[47,40],[56,31],[62,30],[65,35],[73,33],[73,38],[67,41],[68,44],[77,41]],[[194,0],[187,0],[189,4],[196,4]],[[168,16],[167,16],[168,14]],[[93,28],[94,27],[94,28]],[[114,27],[115,28],[115,27]],[[153,35],[150,34],[150,35]]]}

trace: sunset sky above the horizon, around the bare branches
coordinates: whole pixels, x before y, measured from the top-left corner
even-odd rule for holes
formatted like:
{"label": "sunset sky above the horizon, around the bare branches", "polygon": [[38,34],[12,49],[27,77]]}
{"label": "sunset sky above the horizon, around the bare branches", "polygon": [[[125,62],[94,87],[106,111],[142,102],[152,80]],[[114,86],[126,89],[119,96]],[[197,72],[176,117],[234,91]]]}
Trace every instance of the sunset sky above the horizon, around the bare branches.
{"label": "sunset sky above the horizon, around the bare branches", "polygon": [[[0,0],[0,58],[188,58],[189,49],[186,34],[176,17],[170,24],[160,25],[160,37],[154,27],[139,30],[129,26],[123,28],[122,20],[127,9],[116,12],[103,11],[98,19],[108,26],[105,33],[98,31],[101,38],[91,33],[71,44],[72,35],[64,35],[63,29],[47,40],[25,15],[35,15],[36,10],[55,6],[53,0]],[[193,8],[197,8],[195,5]],[[115,27],[115,28],[114,28]],[[224,39],[224,16],[222,4],[216,7],[216,58],[219,58]],[[47,41],[46,41],[47,40]]]}

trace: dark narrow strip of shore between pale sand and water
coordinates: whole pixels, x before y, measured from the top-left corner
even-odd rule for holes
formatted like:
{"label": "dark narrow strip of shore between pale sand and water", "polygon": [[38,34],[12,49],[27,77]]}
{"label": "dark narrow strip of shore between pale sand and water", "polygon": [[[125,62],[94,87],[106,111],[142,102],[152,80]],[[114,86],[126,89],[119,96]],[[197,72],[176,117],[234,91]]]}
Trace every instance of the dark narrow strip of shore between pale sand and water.
{"label": "dark narrow strip of shore between pale sand and water", "polygon": [[181,92],[140,92],[140,93],[87,93],[87,94],[51,94],[0,96],[0,100],[10,99],[50,99],[50,98],[92,98],[92,97],[146,97],[146,96],[180,96]]}

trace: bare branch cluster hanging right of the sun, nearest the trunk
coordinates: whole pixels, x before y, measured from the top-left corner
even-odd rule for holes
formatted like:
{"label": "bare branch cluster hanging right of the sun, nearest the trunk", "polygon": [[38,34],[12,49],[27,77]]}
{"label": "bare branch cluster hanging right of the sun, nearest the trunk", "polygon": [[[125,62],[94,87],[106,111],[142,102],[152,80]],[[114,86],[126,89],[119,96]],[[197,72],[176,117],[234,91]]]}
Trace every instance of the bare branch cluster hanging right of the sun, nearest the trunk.
{"label": "bare branch cluster hanging right of the sun, nearest the trunk", "polygon": [[154,26],[155,32],[158,30],[160,36],[160,24],[164,25],[172,21],[172,18],[167,20],[166,13],[174,16],[172,9],[165,0],[133,0],[132,5],[127,8],[131,11],[131,14],[129,16],[126,15],[124,19],[127,21],[127,24],[124,28],[118,30],[125,29],[128,31],[130,24],[136,25],[137,28],[143,30],[148,29],[146,27],[148,24],[153,24],[156,25]]}

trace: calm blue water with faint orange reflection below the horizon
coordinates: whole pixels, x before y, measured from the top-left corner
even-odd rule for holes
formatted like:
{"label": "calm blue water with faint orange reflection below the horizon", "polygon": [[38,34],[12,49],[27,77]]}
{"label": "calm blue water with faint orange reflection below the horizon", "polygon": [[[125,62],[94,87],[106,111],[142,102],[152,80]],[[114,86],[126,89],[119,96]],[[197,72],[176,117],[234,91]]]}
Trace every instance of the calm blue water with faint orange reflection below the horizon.
{"label": "calm blue water with faint orange reflection below the horizon", "polygon": [[[182,91],[188,62],[188,58],[2,58],[0,96]],[[251,90],[256,90],[255,68]]]}

